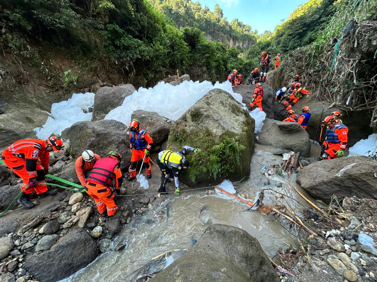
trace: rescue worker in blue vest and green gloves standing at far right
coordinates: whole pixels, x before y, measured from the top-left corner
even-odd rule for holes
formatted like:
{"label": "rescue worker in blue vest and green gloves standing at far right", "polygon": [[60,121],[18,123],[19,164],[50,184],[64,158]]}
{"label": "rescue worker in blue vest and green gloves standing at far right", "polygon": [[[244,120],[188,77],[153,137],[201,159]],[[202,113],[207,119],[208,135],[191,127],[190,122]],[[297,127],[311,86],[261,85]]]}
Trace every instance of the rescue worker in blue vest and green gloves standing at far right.
{"label": "rescue worker in blue vest and green gloves standing at far right", "polygon": [[319,159],[336,159],[344,156],[344,150],[347,146],[348,128],[343,124],[337,122],[333,117],[325,118],[325,125],[328,126],[326,130],[326,144],[325,152]]}

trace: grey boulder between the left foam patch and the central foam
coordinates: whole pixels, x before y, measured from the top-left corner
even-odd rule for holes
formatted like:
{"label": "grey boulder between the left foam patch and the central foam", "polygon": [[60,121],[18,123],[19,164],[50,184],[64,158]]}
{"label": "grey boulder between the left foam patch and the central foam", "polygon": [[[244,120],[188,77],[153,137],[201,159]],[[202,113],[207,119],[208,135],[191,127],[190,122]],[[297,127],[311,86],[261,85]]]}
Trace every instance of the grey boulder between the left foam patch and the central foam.
{"label": "grey boulder between the left foam patch and the central foam", "polygon": [[103,119],[112,109],[121,106],[124,99],[135,90],[132,84],[98,89],[94,96],[92,120]]}

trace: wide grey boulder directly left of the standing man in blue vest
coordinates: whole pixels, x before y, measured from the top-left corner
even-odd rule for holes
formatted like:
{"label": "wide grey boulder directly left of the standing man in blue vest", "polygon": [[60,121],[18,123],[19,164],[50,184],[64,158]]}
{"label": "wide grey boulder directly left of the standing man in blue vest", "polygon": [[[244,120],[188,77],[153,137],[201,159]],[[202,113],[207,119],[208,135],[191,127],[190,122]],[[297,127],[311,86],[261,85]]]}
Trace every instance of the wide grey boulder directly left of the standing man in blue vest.
{"label": "wide grey boulder directly left of the standing man in blue vest", "polygon": [[[78,121],[67,130],[69,152],[73,158],[90,149],[105,157],[110,151],[122,155],[121,168],[129,167],[131,153],[129,135],[124,132],[126,126],[116,120]],[[72,173],[73,174],[73,173]]]}

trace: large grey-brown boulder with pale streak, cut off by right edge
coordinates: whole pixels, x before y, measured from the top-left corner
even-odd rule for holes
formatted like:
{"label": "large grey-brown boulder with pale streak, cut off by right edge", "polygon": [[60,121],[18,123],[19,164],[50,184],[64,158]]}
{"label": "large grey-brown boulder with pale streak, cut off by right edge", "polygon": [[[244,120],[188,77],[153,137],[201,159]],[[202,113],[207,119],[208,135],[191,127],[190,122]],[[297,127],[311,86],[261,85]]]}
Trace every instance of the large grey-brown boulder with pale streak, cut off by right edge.
{"label": "large grey-brown boulder with pale streak, cut off by right edge", "polygon": [[353,195],[377,199],[376,171],[377,161],[355,156],[313,162],[297,174],[296,181],[326,203],[333,194],[339,199]]}

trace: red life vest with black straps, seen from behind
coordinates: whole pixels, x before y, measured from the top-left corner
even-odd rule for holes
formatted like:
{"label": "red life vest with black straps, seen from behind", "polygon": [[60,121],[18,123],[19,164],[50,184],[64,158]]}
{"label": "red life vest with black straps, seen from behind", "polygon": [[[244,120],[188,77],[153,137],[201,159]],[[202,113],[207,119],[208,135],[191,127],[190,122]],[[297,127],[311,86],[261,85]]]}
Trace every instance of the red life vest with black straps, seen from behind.
{"label": "red life vest with black straps, seen from behind", "polygon": [[113,179],[115,179],[114,168],[119,164],[120,162],[113,158],[99,159],[95,163],[87,180],[91,183],[111,186]]}

